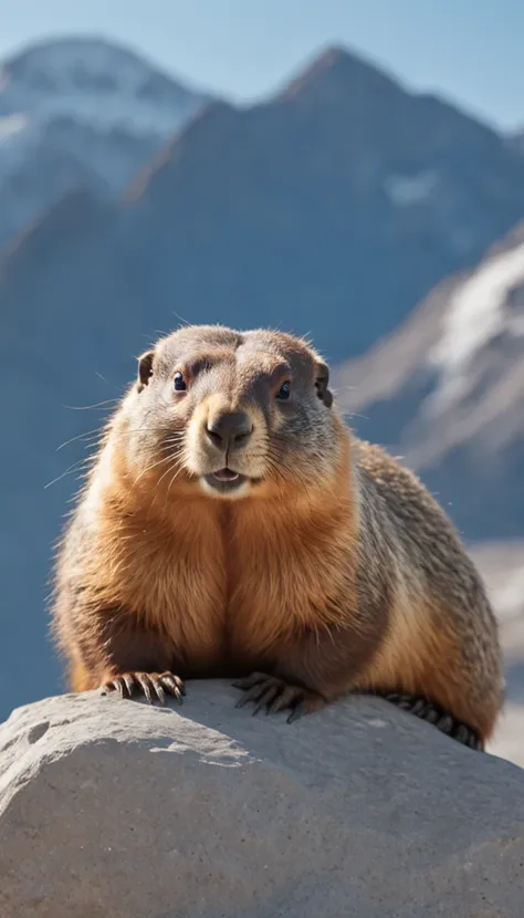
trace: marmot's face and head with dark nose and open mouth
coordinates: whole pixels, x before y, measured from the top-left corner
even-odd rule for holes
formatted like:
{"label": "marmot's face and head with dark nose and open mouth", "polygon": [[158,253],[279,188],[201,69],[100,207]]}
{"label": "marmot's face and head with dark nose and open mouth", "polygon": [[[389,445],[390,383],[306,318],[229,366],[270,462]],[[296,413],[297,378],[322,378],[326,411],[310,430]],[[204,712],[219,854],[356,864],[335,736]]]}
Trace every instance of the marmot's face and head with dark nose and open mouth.
{"label": "marmot's face and head with dark nose and open mouth", "polygon": [[276,497],[293,481],[296,493],[337,461],[327,383],[326,365],[291,335],[189,326],[140,357],[120,429],[159,487],[178,478],[232,500]]}

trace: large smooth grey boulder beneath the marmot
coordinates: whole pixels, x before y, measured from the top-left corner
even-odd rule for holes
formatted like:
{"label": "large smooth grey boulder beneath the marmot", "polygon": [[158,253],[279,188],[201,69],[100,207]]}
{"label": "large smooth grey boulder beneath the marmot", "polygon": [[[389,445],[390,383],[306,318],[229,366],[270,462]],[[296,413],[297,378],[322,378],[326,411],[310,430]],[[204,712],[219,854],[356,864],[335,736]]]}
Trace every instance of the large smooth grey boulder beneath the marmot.
{"label": "large smooth grey boulder beneath the marmot", "polygon": [[289,727],[63,696],[0,727],[2,918],[517,918],[524,773],[379,699]]}

